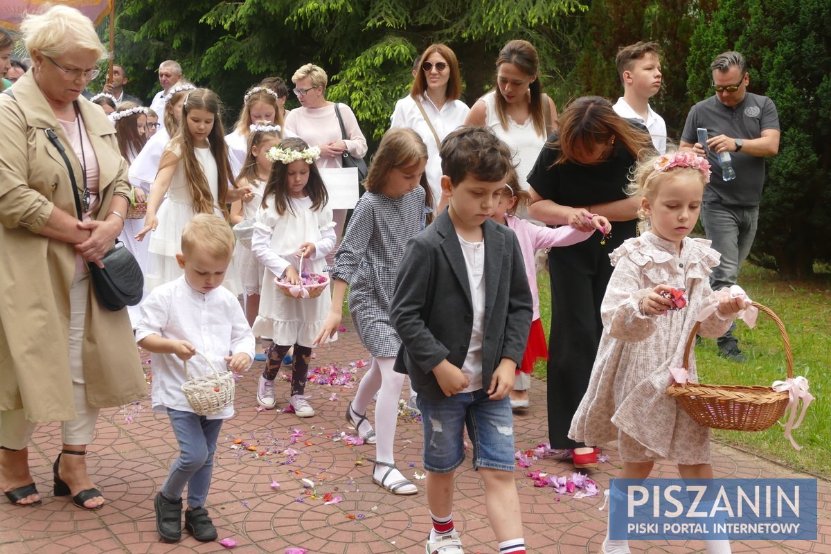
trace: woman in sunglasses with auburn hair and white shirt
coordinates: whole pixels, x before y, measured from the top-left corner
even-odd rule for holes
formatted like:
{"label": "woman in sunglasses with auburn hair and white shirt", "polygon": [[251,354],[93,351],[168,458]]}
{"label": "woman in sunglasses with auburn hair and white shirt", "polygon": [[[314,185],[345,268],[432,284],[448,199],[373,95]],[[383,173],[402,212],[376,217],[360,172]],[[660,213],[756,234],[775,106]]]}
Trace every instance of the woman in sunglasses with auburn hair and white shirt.
{"label": "woman in sunglasses with auburn hair and white shirt", "polygon": [[441,200],[441,141],[465,123],[470,108],[459,98],[462,78],[459,61],[450,47],[431,44],[416,59],[410,96],[396,102],[390,128],[409,127],[427,145],[427,183],[433,205],[444,208]]}

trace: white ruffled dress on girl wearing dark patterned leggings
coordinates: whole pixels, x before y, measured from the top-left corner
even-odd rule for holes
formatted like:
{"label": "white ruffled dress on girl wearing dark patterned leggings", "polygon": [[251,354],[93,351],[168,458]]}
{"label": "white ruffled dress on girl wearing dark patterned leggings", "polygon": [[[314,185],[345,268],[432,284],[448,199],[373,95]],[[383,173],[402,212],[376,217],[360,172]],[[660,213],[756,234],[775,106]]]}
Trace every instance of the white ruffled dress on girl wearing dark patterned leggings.
{"label": "white ruffled dress on girl wearing dark patterned leggings", "polygon": [[[255,236],[261,233],[268,234],[271,252],[282,257],[295,269],[300,262],[295,255],[300,245],[315,243],[316,250],[312,259],[303,260],[302,270],[322,273],[326,255],[335,248],[332,208],[326,206],[313,211],[311,199],[291,201],[293,213],[286,212],[281,215],[274,208],[274,199],[268,199],[267,206],[257,210]],[[323,238],[329,240],[322,240]],[[255,251],[259,252],[256,249]],[[263,258],[260,260],[263,261]],[[317,298],[287,297],[283,291],[278,290],[274,277],[275,274],[267,267],[264,271],[259,315],[252,329],[254,336],[271,339],[278,345],[312,346],[329,314],[329,307],[332,306],[329,287],[327,286]]]}

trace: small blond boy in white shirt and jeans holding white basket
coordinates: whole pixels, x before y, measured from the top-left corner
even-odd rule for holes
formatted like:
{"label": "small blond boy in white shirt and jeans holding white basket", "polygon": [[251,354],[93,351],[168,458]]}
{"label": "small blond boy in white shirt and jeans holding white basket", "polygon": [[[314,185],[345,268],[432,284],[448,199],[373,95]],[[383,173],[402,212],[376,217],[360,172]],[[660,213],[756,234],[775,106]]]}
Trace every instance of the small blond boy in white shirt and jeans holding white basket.
{"label": "small blond boy in white shirt and jeans holding white basket", "polygon": [[[234,233],[223,218],[201,213],[184,227],[182,253],[176,255],[184,275],[156,287],[141,303],[135,330],[139,346],[153,353],[151,407],[165,412],[179,442],[179,458],[170,466],[154,501],[156,529],[165,542],[182,536],[182,493],[188,487],[184,527],[199,541],[213,541],[216,527],[204,508],[214,469],[214,452],[222,420],[219,414],[198,415],[182,392],[187,380],[212,375],[214,367],[239,372],[254,356],[254,336],[234,294],[221,287],[231,256]],[[196,355],[199,353],[200,355]]]}

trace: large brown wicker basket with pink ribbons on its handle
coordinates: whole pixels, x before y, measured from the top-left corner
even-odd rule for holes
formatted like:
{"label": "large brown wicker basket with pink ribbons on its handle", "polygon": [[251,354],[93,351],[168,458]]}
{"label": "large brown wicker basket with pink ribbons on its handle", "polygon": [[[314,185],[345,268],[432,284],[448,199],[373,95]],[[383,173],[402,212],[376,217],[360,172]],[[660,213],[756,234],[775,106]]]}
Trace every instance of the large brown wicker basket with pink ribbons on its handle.
{"label": "large brown wicker basket with pink ribbons on its handle", "polygon": [[[779,327],[784,344],[785,363],[788,378],[794,376],[794,355],[790,349],[788,333],[784,324],[767,306],[757,302],[753,305],[766,313]],[[684,348],[684,367],[689,366],[690,351],[696,341],[696,322]],[[697,424],[713,429],[734,431],[761,431],[768,429],[784,415],[788,405],[788,392],[776,392],[773,387],[740,385],[701,385],[700,383],[673,383],[666,394],[674,396],[687,414]]]}

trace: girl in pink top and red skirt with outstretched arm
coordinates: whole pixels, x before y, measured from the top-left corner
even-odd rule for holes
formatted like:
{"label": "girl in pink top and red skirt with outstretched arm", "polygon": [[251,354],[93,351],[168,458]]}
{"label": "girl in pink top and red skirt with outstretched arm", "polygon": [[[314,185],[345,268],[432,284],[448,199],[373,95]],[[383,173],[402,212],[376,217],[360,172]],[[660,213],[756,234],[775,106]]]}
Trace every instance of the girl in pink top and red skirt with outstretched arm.
{"label": "girl in pink top and red skirt with outstretched arm", "polygon": [[577,228],[563,226],[548,228],[535,225],[527,219],[516,217],[515,213],[520,206],[527,206],[531,201],[531,195],[520,188],[517,172],[511,171],[508,176],[508,183],[502,194],[502,199],[491,216],[496,223],[502,223],[514,230],[519,249],[522,251],[525,272],[528,274],[531,297],[534,298],[534,319],[531,321],[531,332],[528,337],[528,344],[525,346],[525,355],[522,365],[517,367],[517,379],[514,390],[511,391],[511,408],[528,408],[528,390],[531,386],[531,374],[534,372],[534,364],[537,360],[548,360],[548,346],[545,344],[545,331],[543,323],[539,319],[539,292],[537,289],[537,267],[534,262],[534,254],[540,248],[553,248],[571,246],[581,243],[592,236],[595,229],[606,234],[612,230],[612,225],[607,218],[594,216],[592,218],[591,231],[581,231]]}

